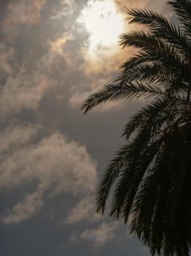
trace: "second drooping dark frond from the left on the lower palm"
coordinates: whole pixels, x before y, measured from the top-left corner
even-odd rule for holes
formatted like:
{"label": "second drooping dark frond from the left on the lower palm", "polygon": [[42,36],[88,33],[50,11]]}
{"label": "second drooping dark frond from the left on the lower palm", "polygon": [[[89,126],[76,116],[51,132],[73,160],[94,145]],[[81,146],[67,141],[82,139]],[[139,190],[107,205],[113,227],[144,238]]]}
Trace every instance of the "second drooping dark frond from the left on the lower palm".
{"label": "second drooping dark frond from the left on the lower palm", "polygon": [[[122,217],[124,223],[127,223],[140,182],[158,152],[162,141],[163,139],[151,142],[145,150],[139,152],[136,160],[129,158],[125,163],[113,192],[110,217],[113,216],[117,219]],[[132,145],[134,143],[132,142]]]}

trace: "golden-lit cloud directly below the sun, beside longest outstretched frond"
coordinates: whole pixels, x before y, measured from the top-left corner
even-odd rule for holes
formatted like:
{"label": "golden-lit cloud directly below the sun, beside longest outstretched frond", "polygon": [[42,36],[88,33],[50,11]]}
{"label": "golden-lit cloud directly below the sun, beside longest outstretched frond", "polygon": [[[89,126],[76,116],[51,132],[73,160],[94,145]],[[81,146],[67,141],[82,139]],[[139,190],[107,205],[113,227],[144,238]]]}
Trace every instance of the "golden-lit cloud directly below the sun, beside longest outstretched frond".
{"label": "golden-lit cloud directly below the sun, beside longest outstretched frond", "polygon": [[[84,58],[83,63],[79,66],[79,71],[83,73],[86,80],[78,86],[71,87],[71,96],[69,105],[72,108],[79,108],[83,100],[90,93],[96,92],[103,85],[112,83],[118,74],[118,68],[124,61],[124,54],[129,55],[132,50],[124,49],[120,51],[120,47],[100,47],[92,51],[81,49]],[[100,107],[101,111],[108,111],[111,107],[119,107],[120,104],[105,104]],[[120,105],[122,107],[122,105]],[[98,108],[95,109],[97,111]]]}

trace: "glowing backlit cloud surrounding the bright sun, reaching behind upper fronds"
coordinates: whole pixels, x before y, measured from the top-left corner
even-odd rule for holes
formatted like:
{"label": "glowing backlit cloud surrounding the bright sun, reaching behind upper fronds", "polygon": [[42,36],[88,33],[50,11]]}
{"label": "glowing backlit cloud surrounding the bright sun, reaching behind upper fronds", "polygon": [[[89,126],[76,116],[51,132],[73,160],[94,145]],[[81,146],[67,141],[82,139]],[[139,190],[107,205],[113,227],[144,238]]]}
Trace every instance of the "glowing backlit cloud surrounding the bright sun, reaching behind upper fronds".
{"label": "glowing backlit cloud surrounding the bright sun, reaching behind upper fronds", "polygon": [[[104,0],[104,1],[88,1],[87,6],[82,10],[82,15],[80,16],[79,21],[84,23],[84,26],[90,32],[89,37],[89,49],[87,47],[81,48],[81,54],[84,58],[84,61],[79,66],[79,70],[83,72],[86,76],[86,82],[83,81],[80,85],[76,86],[76,89],[73,90],[72,95],[69,99],[69,105],[72,108],[79,108],[82,104],[84,98],[87,97],[91,92],[97,91],[98,88],[102,87],[104,84],[111,83],[116,76],[118,75],[119,66],[128,58],[135,53],[135,50],[131,48],[125,48],[121,50],[121,47],[118,46],[117,36],[121,33],[128,32],[129,30],[137,29],[137,25],[128,25],[126,20],[127,14],[125,11],[130,8],[149,8],[151,10],[157,10],[164,14],[167,18],[171,18],[173,15],[172,9],[165,4],[165,0],[162,2],[153,2],[153,1],[124,1],[124,0]],[[107,8],[106,8],[107,7]],[[93,12],[94,9],[97,10]],[[110,10],[110,12],[107,12]],[[100,17],[95,18],[93,16],[98,15]],[[115,27],[112,26],[111,22],[108,23],[108,26],[112,29],[110,36],[114,36],[115,41],[112,41],[111,38],[107,36],[107,32],[104,33],[104,21],[106,22],[107,18],[110,15],[118,17],[119,24],[115,22]],[[95,23],[93,20],[97,20]],[[91,23],[92,22],[92,23]],[[100,23],[100,27],[99,27]],[[106,26],[106,25],[105,25]],[[141,29],[143,26],[139,26]],[[106,29],[108,31],[108,29]],[[114,34],[112,34],[114,33]],[[106,36],[106,37],[105,37]],[[104,41],[105,38],[105,41]],[[92,47],[93,42],[93,47]],[[119,106],[118,106],[119,105]],[[96,108],[94,111],[108,111],[113,107],[121,108],[123,105],[119,104],[107,104],[106,106],[101,106]]]}

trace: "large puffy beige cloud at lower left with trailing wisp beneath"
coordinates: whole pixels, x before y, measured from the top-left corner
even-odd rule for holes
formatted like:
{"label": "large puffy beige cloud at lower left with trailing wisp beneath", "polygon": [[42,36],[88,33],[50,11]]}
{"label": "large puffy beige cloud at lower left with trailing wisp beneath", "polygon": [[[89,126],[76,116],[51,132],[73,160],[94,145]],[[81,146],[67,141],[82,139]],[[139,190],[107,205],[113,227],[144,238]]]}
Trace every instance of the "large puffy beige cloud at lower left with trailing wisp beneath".
{"label": "large puffy beige cloud at lower left with trailing wisp beneath", "polygon": [[96,162],[83,145],[54,133],[36,144],[18,147],[1,159],[0,188],[21,187],[33,180],[38,181],[36,190],[3,215],[4,223],[31,218],[41,208],[45,192],[49,196],[61,192],[73,196],[93,193],[97,185]]}

